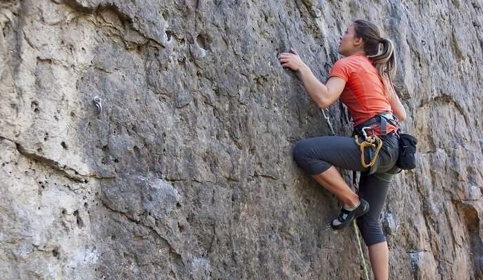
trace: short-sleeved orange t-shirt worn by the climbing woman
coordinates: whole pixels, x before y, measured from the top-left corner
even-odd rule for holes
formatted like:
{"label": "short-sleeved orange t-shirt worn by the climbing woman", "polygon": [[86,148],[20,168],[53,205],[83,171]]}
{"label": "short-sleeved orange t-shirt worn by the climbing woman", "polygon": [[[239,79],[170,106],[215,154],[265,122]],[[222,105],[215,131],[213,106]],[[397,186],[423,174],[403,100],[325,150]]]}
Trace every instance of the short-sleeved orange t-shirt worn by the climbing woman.
{"label": "short-sleeved orange t-shirt worn by the climbing woman", "polygon": [[[381,112],[392,112],[384,83],[373,63],[363,54],[353,54],[339,59],[331,69],[331,77],[346,81],[340,100],[354,121],[354,126],[364,123]],[[388,123],[387,133],[395,131]],[[380,134],[380,127],[375,128]]]}

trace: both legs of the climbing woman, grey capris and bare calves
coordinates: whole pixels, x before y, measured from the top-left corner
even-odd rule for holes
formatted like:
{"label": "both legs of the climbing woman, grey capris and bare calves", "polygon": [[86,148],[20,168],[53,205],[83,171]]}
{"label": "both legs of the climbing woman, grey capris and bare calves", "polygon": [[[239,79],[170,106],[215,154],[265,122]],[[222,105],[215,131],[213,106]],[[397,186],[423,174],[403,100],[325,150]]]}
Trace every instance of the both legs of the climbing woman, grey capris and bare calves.
{"label": "both legs of the climbing woman, grey capris and bare calves", "polygon": [[[397,141],[393,142],[397,143]],[[395,145],[395,147],[391,146],[391,149],[397,149],[397,144]],[[392,179],[391,175],[389,177],[382,174],[362,176],[359,182],[359,197],[357,197],[357,194],[347,186],[339,172],[333,167],[337,166],[356,171],[367,170],[361,164],[359,146],[355,144],[351,137],[306,139],[297,143],[293,154],[295,161],[302,169],[311,174],[324,188],[333,192],[345,205],[353,206],[359,201],[359,198],[369,203],[371,206],[369,212],[357,219],[357,226],[359,226],[362,237],[369,248],[369,257],[375,279],[388,279],[388,246],[386,237],[382,232],[380,214],[386,201],[388,186]],[[387,152],[386,154],[386,157],[381,156],[381,169],[393,166],[397,158],[397,156],[392,157]],[[378,171],[384,172],[380,168],[378,168]]]}

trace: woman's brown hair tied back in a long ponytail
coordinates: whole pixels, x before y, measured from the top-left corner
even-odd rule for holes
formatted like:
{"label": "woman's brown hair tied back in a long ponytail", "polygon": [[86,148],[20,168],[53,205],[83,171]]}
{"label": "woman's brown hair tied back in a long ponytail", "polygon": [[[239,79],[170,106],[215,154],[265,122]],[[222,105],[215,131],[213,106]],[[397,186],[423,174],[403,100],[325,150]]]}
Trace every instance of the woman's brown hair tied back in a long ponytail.
{"label": "woman's brown hair tied back in a long ponytail", "polygon": [[[377,69],[388,96],[395,94],[392,79],[396,75],[396,53],[393,42],[381,37],[379,28],[371,21],[358,19],[354,21],[355,36],[364,40],[364,52]],[[382,44],[382,50],[380,50]]]}

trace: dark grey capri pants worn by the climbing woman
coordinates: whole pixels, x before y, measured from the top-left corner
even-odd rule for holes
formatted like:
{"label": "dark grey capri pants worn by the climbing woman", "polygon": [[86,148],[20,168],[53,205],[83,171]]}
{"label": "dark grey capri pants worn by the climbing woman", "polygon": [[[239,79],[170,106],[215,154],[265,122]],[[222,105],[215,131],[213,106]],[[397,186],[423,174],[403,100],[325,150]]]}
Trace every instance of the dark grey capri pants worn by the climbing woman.
{"label": "dark grey capri pants worn by the climbing woman", "polygon": [[[366,175],[369,168],[361,163],[361,150],[353,137],[315,137],[299,141],[293,148],[293,156],[297,164],[309,174],[320,174],[331,166],[346,170],[360,171],[359,198],[369,203],[369,212],[357,218],[357,226],[366,246],[386,241],[382,232],[380,215],[389,184],[394,174],[400,169],[395,166],[399,155],[397,136],[391,132],[382,139],[382,148],[377,157],[377,170]],[[359,139],[360,141],[360,139]],[[369,161],[366,148],[365,159]]]}

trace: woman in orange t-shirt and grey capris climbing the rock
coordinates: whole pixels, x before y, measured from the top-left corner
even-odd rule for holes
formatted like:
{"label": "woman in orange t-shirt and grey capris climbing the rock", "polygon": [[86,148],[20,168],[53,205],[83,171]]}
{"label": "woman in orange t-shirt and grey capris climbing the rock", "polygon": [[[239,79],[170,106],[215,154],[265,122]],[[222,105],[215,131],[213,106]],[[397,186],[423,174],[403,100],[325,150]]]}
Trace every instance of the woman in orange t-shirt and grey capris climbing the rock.
{"label": "woman in orange t-shirt and grey capris climbing the rock", "polygon": [[[299,141],[293,155],[302,169],[342,202],[342,210],[331,226],[341,229],[356,219],[368,246],[375,279],[388,279],[388,246],[380,214],[389,183],[399,171],[395,166],[399,154],[397,121],[406,119],[391,82],[396,71],[395,50],[375,24],[357,20],[340,37],[339,54],[344,58],[333,65],[325,85],[295,50],[279,54],[278,59],[283,67],[298,72],[319,108],[327,108],[340,97],[353,118],[354,134],[363,139],[380,139],[382,146],[362,152],[353,137],[315,137]],[[375,165],[368,166],[366,162],[374,157]],[[362,172],[358,194],[334,166]]]}

